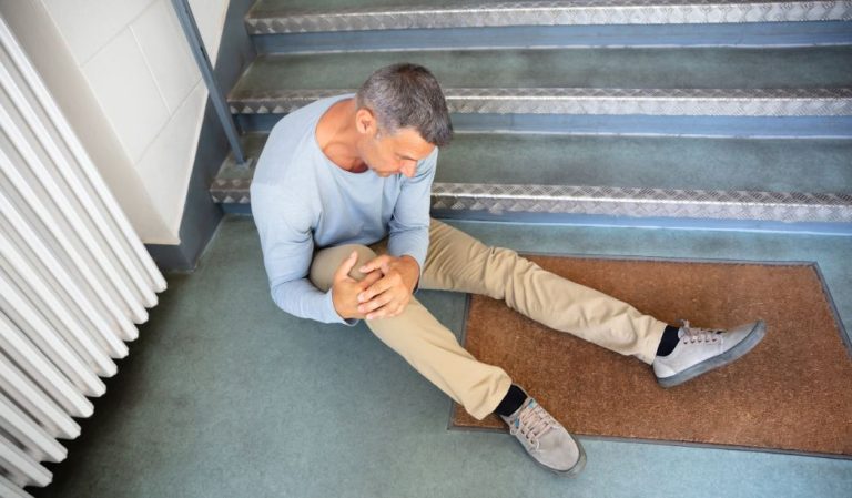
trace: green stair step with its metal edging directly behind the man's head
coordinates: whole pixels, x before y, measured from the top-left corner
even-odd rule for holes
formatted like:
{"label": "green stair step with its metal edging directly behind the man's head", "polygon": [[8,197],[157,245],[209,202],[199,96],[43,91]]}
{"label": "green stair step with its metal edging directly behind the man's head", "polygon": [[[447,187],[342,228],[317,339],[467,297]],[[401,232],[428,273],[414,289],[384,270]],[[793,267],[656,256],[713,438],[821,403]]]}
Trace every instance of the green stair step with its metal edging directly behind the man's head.
{"label": "green stair step with its metal edging directly behind the man's head", "polygon": [[460,114],[850,116],[852,47],[454,50],[258,57],[234,114],[284,114],[408,61]]}

